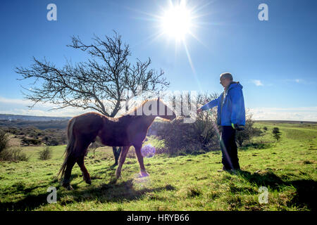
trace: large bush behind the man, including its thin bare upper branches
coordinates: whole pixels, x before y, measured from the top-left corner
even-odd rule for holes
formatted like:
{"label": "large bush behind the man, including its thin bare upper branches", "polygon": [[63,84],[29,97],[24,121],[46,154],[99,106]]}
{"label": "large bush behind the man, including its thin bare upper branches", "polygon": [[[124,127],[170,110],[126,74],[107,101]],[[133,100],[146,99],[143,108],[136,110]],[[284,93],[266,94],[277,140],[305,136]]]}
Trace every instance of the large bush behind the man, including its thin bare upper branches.
{"label": "large bush behind the man, including its thin bare upper branches", "polygon": [[[218,98],[216,94],[198,94],[197,108],[215,98]],[[173,98],[173,105],[180,104],[182,106],[184,101],[188,101],[187,105],[189,105],[191,99],[189,96],[182,96],[180,100],[176,103],[175,98]],[[182,107],[180,108],[182,109]],[[247,112],[244,131],[237,131],[237,143],[240,146],[251,141],[253,136],[259,136],[262,133],[261,129],[256,129],[253,126],[254,120],[251,117],[251,113]],[[164,139],[164,148],[169,155],[197,155],[210,150],[220,150],[220,127],[216,121],[217,109],[213,108],[199,113],[192,123],[184,123],[182,120],[175,120],[173,123],[154,122],[149,128],[148,135]]]}

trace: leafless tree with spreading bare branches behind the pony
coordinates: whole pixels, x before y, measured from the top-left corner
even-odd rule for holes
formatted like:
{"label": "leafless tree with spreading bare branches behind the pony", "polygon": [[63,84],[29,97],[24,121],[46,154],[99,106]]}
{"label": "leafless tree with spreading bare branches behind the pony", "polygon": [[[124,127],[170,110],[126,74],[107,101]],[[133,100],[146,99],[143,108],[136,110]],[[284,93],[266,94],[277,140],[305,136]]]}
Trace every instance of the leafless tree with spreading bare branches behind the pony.
{"label": "leafless tree with spreading bare branches behind the pony", "polygon": [[[54,109],[66,107],[95,110],[108,117],[115,117],[122,108],[125,90],[137,94],[137,87],[142,91],[161,91],[169,85],[164,72],[149,69],[151,59],[142,62],[137,59],[131,65],[128,44],[123,44],[121,36],[114,31],[113,37],[92,38],[92,44],[84,44],[79,37],[72,37],[73,49],[86,52],[89,58],[85,62],[71,63],[66,61],[63,68],[56,68],[54,63],[37,60],[30,68],[15,68],[22,75],[21,79],[34,79],[31,88],[27,89],[25,98],[34,102],[30,108],[39,102],[49,102],[58,105]],[[120,148],[113,147],[115,165],[118,163]]]}

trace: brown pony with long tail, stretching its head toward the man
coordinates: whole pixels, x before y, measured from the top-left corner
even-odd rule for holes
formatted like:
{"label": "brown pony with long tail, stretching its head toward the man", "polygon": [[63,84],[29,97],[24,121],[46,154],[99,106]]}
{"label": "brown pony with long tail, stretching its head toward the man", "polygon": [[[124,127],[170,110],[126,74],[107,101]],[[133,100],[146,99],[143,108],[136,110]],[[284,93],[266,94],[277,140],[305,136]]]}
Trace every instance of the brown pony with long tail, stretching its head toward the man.
{"label": "brown pony with long tail, stretching its head toward the man", "polygon": [[[153,105],[153,110],[151,110]],[[151,110],[150,114],[144,111],[146,108],[148,111]],[[174,120],[176,117],[175,113],[159,98],[146,100],[141,106],[132,110],[131,113],[118,118],[107,117],[100,113],[85,113],[73,117],[68,122],[67,127],[68,146],[65,151],[65,160],[58,172],[58,175],[64,176],[63,187],[72,189],[70,186],[70,174],[76,162],[82,170],[84,181],[87,184],[91,184],[89,173],[84,165],[84,158],[88,146],[96,139],[99,139],[105,146],[123,146],[119,165],[116,169],[117,178],[121,175],[121,168],[130,146],[135,147],[140,175],[149,176],[144,167],[141,148],[147,136],[147,130],[156,116],[166,120]]]}

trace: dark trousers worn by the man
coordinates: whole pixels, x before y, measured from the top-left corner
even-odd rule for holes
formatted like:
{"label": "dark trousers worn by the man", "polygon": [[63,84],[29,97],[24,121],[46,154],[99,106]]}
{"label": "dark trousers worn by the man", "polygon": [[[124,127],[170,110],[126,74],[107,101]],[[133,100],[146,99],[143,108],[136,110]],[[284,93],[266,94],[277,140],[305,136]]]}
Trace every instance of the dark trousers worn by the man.
{"label": "dark trousers worn by the man", "polygon": [[235,143],[236,131],[231,126],[222,126],[220,148],[223,153],[222,162],[224,169],[240,169],[237,157],[237,143]]}

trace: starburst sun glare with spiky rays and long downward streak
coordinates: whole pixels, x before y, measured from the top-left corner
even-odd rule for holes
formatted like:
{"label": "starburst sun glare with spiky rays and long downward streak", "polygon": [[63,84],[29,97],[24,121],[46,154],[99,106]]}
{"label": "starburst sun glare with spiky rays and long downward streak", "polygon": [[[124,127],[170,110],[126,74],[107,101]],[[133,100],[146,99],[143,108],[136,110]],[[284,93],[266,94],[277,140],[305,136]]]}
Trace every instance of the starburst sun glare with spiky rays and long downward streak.
{"label": "starburst sun glare with spiky rays and long downward streak", "polygon": [[[166,0],[168,4],[166,6],[159,6],[159,14],[151,14],[147,12],[141,12],[144,15],[147,15],[147,18],[144,20],[154,20],[155,28],[158,29],[156,32],[151,33],[147,39],[141,41],[140,43],[153,43],[161,37],[166,37],[166,46],[167,49],[170,49],[170,41],[175,43],[175,54],[174,57],[177,57],[178,50],[183,47],[185,50],[188,62],[192,68],[194,77],[199,80],[194,69],[194,63],[192,57],[190,56],[189,44],[193,41],[199,41],[200,44],[206,47],[203,41],[197,36],[197,32],[201,25],[206,25],[204,21],[201,21],[209,13],[204,13],[204,8],[212,3],[212,1],[207,2],[206,4],[197,4],[197,1],[189,0]],[[188,2],[187,2],[188,1]],[[206,47],[207,48],[207,47]],[[200,86],[200,85],[199,85]]]}

